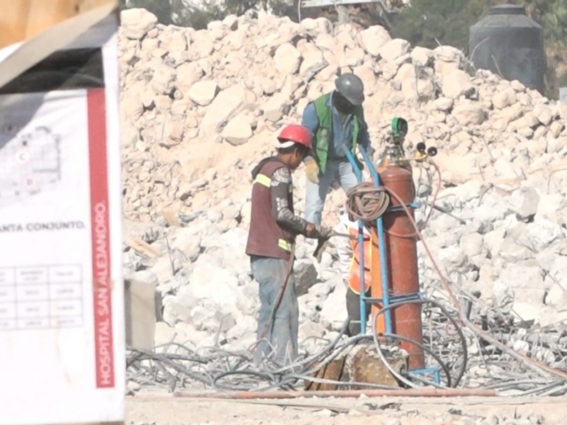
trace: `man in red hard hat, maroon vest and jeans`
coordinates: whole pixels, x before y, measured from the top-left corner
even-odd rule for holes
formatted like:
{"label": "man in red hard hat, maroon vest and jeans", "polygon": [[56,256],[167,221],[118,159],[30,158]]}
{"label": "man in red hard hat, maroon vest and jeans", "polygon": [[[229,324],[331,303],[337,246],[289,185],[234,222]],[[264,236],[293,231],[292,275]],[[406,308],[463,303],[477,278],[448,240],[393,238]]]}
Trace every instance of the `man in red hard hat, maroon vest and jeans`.
{"label": "man in red hard hat, maroon vest and jeans", "polygon": [[297,234],[319,239],[332,229],[315,225],[293,212],[292,172],[310,152],[311,135],[301,125],[287,125],[277,137],[275,157],[252,170],[252,212],[246,245],[252,276],[259,283],[260,311],[256,359],[279,365],[298,356],[298,302],[293,276]]}

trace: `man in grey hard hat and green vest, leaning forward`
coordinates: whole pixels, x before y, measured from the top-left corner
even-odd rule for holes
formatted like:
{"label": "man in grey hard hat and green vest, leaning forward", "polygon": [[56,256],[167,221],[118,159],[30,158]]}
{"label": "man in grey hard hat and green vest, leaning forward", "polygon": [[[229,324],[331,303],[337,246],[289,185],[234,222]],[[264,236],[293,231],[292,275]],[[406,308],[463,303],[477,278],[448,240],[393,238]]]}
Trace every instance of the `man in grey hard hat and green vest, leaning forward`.
{"label": "man in grey hard hat and green vest, leaning forward", "polygon": [[304,160],[305,220],[309,222],[320,224],[325,198],[334,183],[345,192],[358,183],[343,146],[356,154],[360,144],[374,154],[363,102],[362,80],[352,73],[342,74],[335,80],[335,90],[308,103],[303,111],[301,125],[313,135],[312,152]]}

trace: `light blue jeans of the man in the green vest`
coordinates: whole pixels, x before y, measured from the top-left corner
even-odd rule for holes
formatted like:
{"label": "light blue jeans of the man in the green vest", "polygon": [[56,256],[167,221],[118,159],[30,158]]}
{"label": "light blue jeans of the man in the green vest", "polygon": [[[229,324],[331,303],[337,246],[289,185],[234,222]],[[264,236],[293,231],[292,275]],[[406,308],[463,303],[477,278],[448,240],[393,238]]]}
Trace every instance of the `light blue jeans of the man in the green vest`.
{"label": "light blue jeans of the man in the green vest", "polygon": [[319,184],[307,180],[305,183],[305,220],[321,224],[322,210],[325,207],[325,198],[332,183],[339,183],[342,190],[347,192],[357,186],[357,176],[348,159],[330,159],[325,167],[325,174],[319,176]]}

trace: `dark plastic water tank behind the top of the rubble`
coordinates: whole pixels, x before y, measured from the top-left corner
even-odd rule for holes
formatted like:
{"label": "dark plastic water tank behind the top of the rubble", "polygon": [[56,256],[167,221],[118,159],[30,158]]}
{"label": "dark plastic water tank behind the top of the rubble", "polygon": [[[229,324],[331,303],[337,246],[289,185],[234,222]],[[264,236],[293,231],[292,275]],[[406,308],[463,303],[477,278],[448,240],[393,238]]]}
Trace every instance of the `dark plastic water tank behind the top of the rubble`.
{"label": "dark plastic water tank behind the top of the rubble", "polygon": [[476,69],[490,69],[507,80],[544,93],[544,31],[523,6],[493,6],[471,26],[468,52]]}

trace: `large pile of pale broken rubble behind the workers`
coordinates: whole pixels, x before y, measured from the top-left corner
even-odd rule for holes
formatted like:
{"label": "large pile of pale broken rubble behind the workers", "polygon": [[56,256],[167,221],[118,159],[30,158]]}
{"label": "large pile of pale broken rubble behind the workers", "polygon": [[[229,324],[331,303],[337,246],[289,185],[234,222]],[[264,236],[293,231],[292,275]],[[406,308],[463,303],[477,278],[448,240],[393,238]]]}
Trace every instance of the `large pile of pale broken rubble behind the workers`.
{"label": "large pile of pale broken rubble behind the workers", "polygon": [[[125,270],[158,284],[158,342],[254,342],[257,284],[244,254],[249,173],[273,151],[276,132],[301,121],[308,101],[330,91],[341,72],[364,81],[378,152],[395,116],[408,120],[408,147],[439,149],[435,203],[450,215],[434,210],[422,233],[454,285],[479,291],[475,311],[498,308],[524,325],[557,327],[561,336],[567,105],[474,70],[454,47],[411,46],[380,26],[358,31],[325,18],[293,23],[260,14],[194,30],[157,24],[143,9],[121,18],[125,237],[152,252],[127,246]],[[302,171],[294,177],[299,212]],[[423,222],[437,175],[416,167],[415,180]],[[335,225],[344,194],[329,199],[323,220]],[[418,246],[422,285],[437,288],[437,272]],[[314,248],[301,238],[296,247],[302,339],[332,335],[346,317],[337,258],[331,249],[314,263]],[[532,349],[517,344],[521,335],[510,341]],[[546,349],[532,356],[563,361],[559,348]]]}

